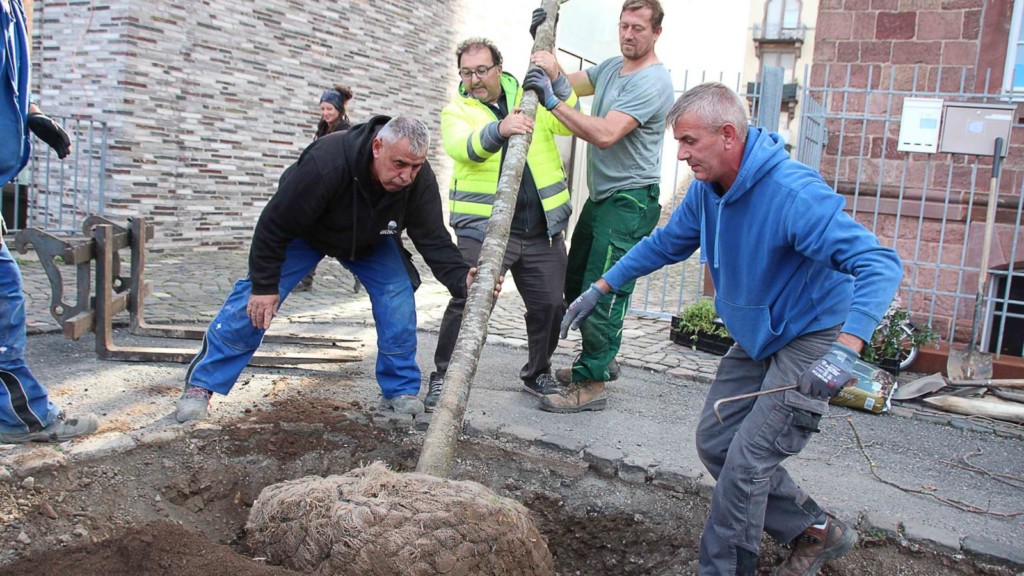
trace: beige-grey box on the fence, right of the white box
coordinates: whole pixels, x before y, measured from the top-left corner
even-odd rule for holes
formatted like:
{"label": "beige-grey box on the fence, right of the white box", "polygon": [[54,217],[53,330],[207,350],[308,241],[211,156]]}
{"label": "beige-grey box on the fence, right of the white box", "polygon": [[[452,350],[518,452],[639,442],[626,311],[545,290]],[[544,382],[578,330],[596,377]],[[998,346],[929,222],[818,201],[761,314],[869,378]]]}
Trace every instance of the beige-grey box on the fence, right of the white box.
{"label": "beige-grey box on the fence, right of the white box", "polygon": [[1014,105],[1002,104],[947,104],[942,115],[939,152],[992,156],[995,138],[1002,138],[1002,156],[1006,156],[1016,109]]}

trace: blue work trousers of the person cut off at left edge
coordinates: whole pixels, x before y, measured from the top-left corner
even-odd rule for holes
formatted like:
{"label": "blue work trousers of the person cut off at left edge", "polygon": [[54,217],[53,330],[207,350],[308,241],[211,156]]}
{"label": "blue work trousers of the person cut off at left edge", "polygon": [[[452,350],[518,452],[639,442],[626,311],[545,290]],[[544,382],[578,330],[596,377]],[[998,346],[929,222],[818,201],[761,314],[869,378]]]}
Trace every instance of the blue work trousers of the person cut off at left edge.
{"label": "blue work trousers of the person cut off at left edge", "polygon": [[0,245],[0,431],[39,431],[60,410],[25,364],[25,293],[22,271]]}

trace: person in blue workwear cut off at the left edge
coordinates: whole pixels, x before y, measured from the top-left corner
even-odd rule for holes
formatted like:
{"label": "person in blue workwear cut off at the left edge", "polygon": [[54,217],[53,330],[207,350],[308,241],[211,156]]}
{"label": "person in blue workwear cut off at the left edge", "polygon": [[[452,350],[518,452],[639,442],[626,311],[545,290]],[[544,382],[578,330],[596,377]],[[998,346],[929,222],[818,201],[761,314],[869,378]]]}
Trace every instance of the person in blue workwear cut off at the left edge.
{"label": "person in blue workwear cut off at the left edge", "polygon": [[[29,162],[31,130],[58,158],[71,139],[29,94],[29,43],[20,0],[0,0],[0,186]],[[29,370],[25,355],[25,292],[22,271],[3,242],[0,217],[0,444],[63,442],[92,434],[94,414],[66,417],[46,386]]]}

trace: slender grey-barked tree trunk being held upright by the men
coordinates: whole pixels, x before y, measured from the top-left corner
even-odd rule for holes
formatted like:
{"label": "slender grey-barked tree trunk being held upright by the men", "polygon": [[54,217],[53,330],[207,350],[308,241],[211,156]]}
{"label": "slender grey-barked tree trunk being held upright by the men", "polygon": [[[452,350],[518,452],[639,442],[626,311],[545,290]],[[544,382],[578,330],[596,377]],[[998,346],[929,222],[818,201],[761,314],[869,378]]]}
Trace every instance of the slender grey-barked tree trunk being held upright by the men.
{"label": "slender grey-barked tree trunk being held upright by the men", "polygon": [[[537,30],[534,52],[553,51],[555,48],[555,19],[558,16],[558,0],[544,0],[542,7],[548,18]],[[526,33],[526,30],[523,30]],[[527,90],[522,95],[519,107],[523,114],[537,118],[537,94]],[[511,111],[509,111],[511,113]],[[526,166],[526,152],[529,150],[531,134],[515,134],[509,139],[508,153],[501,177],[494,209],[487,221],[487,233],[480,250],[480,260],[476,281],[469,291],[466,311],[459,330],[459,339],[444,375],[444,392],[434,409],[430,427],[423,442],[423,452],[416,471],[438,478],[447,478],[455,460],[456,443],[462,433],[462,419],[466,414],[469,392],[476,374],[480,351],[487,337],[487,321],[494,304],[494,286],[501,275],[505,247],[508,245],[509,228],[515,211],[519,182]]]}

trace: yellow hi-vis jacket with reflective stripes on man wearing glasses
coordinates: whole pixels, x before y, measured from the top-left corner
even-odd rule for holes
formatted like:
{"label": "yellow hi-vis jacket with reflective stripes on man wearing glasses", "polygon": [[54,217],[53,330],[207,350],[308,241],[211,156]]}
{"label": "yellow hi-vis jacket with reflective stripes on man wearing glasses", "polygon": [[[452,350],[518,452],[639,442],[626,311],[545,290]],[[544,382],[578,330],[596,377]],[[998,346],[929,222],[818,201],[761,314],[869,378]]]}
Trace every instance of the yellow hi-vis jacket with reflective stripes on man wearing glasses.
{"label": "yellow hi-vis jacket with reflective stripes on man wearing glasses", "polygon": [[[502,74],[501,83],[511,114],[522,99],[522,88],[508,73]],[[565,104],[577,106],[575,92]],[[488,137],[486,132],[487,127],[497,122],[495,113],[467,94],[462,84],[459,94],[441,111],[441,140],[444,152],[455,161],[449,200],[452,228],[457,235],[482,240],[486,232],[502,169],[504,140]],[[572,211],[555,134],[567,136],[571,132],[543,106],[538,106],[526,164],[540,192],[549,237],[565,230]]]}

